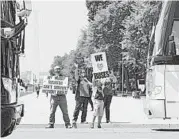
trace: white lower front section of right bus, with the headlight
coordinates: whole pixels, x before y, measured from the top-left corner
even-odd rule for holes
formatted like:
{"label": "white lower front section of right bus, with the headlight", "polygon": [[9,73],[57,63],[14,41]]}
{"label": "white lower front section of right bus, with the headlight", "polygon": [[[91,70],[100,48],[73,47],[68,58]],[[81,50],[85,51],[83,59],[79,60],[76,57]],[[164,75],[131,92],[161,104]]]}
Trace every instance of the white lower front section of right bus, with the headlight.
{"label": "white lower front section of right bus, with the headlight", "polygon": [[165,118],[164,71],[165,65],[156,65],[147,72],[144,111],[149,118]]}

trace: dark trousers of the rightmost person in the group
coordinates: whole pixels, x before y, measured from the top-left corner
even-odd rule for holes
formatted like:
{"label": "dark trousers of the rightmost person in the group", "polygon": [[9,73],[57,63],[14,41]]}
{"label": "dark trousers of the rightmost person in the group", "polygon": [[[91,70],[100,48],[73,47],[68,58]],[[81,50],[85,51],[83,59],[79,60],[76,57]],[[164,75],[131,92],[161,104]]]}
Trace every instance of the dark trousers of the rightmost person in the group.
{"label": "dark trousers of the rightmost person in the group", "polygon": [[104,109],[106,112],[106,121],[110,121],[110,105],[111,105],[112,96],[104,96]]}

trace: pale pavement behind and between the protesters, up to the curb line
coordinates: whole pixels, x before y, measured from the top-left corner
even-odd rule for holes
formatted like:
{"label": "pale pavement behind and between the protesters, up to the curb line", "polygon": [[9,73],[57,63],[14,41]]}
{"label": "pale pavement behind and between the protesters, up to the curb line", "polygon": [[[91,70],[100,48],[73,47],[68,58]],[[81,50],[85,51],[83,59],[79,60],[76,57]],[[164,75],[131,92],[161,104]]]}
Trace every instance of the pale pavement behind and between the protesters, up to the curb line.
{"label": "pale pavement behind and between the protesters, up to the curb line", "polygon": [[[70,119],[73,118],[73,111],[75,108],[75,98],[71,91],[67,94],[68,111]],[[47,98],[46,94],[40,93],[39,98],[36,98],[36,93],[32,93],[20,98],[25,104],[25,115],[21,124],[48,124],[50,112],[50,96]],[[87,121],[92,121],[93,112],[88,105]],[[78,122],[80,122],[81,113],[79,114]],[[102,122],[105,122],[105,115]],[[141,126],[145,125],[179,125],[179,120],[163,120],[163,119],[148,119],[143,111],[143,100],[133,99],[132,97],[113,97],[111,104],[111,126]],[[60,108],[57,108],[56,122],[57,125],[64,124]]]}

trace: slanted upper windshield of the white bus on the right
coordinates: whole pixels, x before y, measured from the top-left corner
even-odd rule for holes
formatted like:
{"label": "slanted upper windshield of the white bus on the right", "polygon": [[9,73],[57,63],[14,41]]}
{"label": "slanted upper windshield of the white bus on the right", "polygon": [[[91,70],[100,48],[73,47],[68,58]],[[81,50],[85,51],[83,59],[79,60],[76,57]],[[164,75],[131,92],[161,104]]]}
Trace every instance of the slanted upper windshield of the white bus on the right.
{"label": "slanted upper windshield of the white bus on the right", "polygon": [[163,10],[155,31],[153,56],[164,55],[169,35],[174,36],[176,55],[179,55],[179,2],[163,4]]}

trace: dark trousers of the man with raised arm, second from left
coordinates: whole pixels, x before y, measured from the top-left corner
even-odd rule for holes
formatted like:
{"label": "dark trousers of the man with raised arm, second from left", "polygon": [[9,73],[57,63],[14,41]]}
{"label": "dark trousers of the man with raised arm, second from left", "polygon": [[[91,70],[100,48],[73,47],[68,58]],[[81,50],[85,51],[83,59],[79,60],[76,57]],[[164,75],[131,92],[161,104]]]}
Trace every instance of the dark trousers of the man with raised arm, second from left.
{"label": "dark trousers of the man with raised arm, second from left", "polygon": [[75,111],[73,113],[73,121],[75,122],[77,121],[81,107],[83,107],[82,115],[81,115],[81,122],[86,121],[88,100],[89,100],[89,97],[79,97],[79,99],[76,100]]}

